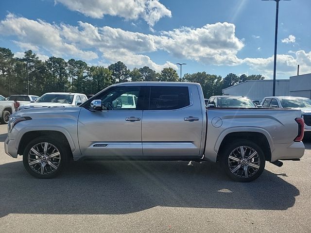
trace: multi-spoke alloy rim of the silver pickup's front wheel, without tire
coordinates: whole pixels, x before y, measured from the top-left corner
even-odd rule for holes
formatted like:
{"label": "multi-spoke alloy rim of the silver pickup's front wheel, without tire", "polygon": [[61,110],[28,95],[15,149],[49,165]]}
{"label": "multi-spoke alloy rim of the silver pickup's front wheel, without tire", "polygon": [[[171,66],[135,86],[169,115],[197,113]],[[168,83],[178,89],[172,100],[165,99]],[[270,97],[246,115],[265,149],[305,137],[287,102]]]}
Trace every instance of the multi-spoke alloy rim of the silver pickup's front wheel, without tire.
{"label": "multi-spoke alloy rim of the silver pickup's front wheel, without tire", "polygon": [[51,174],[60,166],[59,150],[48,142],[35,144],[28,153],[28,164],[38,174]]}

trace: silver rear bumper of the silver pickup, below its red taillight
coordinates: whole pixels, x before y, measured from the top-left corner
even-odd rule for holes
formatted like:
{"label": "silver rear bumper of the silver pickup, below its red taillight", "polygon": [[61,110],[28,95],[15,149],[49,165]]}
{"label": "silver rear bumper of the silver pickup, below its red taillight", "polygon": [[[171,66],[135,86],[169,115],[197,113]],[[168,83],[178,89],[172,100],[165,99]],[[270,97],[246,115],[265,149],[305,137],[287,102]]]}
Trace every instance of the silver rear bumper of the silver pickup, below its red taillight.
{"label": "silver rear bumper of the silver pickup, below its red taillight", "polygon": [[305,153],[305,145],[302,142],[289,144],[275,144],[271,152],[271,162],[278,159],[300,159]]}

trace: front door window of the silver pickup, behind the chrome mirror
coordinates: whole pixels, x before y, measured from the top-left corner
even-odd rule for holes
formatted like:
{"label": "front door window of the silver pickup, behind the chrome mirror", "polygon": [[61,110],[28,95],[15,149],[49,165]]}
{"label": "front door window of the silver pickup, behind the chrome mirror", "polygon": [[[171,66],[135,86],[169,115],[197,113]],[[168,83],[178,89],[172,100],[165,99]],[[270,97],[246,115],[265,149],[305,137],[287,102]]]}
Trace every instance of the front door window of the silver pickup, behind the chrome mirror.
{"label": "front door window of the silver pickup, behind the chrome mirror", "polygon": [[105,93],[100,99],[102,100],[102,105],[108,107],[108,110],[136,110],[140,109],[138,108],[139,95],[139,86],[121,86],[112,88],[111,91]]}

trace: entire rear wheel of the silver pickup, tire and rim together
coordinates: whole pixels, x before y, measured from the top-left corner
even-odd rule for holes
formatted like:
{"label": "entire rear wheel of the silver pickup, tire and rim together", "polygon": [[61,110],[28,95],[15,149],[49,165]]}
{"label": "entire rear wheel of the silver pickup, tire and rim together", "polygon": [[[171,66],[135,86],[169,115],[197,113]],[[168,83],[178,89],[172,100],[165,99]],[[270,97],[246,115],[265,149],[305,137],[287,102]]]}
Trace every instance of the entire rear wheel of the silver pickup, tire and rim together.
{"label": "entire rear wheel of the silver pickup, tire and rim together", "polygon": [[[244,151],[243,156],[241,149]],[[250,156],[252,158],[248,160]],[[261,148],[249,140],[236,140],[221,153],[221,164],[225,173],[236,182],[256,180],[263,172],[265,162]]]}

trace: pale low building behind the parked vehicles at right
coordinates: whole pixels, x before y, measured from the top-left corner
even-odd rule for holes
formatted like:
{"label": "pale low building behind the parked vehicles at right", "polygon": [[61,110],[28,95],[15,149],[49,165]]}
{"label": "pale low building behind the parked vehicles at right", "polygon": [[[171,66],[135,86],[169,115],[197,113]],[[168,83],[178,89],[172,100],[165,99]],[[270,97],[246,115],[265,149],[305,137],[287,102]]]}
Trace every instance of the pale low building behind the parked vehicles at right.
{"label": "pale low building behind the parked vehicles at right", "polygon": [[[223,89],[223,95],[246,96],[262,100],[272,96],[273,80],[248,80]],[[276,96],[300,96],[311,98],[311,73],[276,80]]]}

